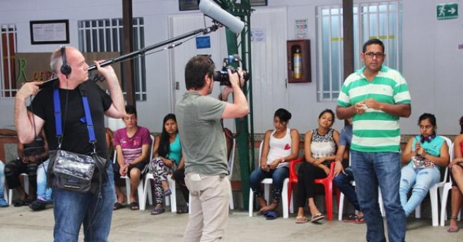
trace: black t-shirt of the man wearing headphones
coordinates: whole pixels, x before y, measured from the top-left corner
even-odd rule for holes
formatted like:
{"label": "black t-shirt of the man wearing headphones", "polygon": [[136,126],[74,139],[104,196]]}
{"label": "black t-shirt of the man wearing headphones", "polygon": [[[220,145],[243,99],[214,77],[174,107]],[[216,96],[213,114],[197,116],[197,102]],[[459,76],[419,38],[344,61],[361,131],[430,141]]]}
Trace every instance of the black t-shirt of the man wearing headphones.
{"label": "black t-shirt of the man wearing headphones", "polygon": [[[49,150],[57,149],[58,140],[54,119],[53,86],[43,88],[33,99],[30,110],[38,117],[45,120],[45,134]],[[90,113],[92,115],[93,127],[95,129],[96,150],[99,156],[107,159],[108,151],[105,138],[105,111],[112,104],[112,100],[105,91],[93,81],[86,81],[80,86],[86,90]],[[61,104],[61,125],[63,140],[61,149],[78,154],[91,154],[93,145],[88,139],[88,129],[85,122],[83,102],[79,88],[66,90],[59,88],[59,99]]]}

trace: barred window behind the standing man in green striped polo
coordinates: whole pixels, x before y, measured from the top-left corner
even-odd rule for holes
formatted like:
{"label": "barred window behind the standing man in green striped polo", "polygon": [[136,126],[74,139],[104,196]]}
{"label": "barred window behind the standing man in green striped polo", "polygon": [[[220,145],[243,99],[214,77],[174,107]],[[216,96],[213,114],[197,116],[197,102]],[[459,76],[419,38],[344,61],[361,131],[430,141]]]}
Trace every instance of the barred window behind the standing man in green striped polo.
{"label": "barred window behind the standing man in green striped polo", "polygon": [[[317,7],[317,100],[336,101],[344,81],[342,6]],[[402,71],[402,2],[353,6],[354,68],[363,67],[363,43],[378,38],[385,44],[387,67]]]}

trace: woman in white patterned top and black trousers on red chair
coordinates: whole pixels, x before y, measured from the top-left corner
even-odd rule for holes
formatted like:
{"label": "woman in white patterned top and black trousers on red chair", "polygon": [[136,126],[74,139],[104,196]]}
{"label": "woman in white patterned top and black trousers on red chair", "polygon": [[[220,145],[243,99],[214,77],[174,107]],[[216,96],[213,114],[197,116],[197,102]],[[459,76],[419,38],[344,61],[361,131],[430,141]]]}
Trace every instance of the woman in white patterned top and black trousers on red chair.
{"label": "woman in white patterned top and black trousers on red chair", "polygon": [[298,168],[298,216],[297,224],[308,221],[305,217],[305,202],[309,204],[312,222],[323,219],[324,216],[315,205],[315,179],[326,178],[329,166],[336,157],[336,147],[339,142],[339,132],[332,129],[334,113],[330,109],[323,110],[318,116],[318,127],[305,134],[305,161]]}

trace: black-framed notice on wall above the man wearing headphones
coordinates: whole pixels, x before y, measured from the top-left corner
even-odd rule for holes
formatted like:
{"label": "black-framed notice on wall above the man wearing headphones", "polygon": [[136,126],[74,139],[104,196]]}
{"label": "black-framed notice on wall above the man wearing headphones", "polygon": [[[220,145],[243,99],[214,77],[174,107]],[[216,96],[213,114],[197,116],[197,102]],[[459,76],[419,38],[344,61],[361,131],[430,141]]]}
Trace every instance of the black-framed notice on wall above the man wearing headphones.
{"label": "black-framed notice on wall above the man wearing headphones", "polygon": [[69,44],[69,20],[30,21],[30,44]]}

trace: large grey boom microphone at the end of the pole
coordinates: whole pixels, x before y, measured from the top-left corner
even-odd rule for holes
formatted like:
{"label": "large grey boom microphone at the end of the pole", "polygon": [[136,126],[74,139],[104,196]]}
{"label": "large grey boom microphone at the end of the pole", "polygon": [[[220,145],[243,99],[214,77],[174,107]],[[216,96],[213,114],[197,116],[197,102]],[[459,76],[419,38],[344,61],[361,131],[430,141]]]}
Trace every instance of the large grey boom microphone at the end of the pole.
{"label": "large grey boom microphone at the end of the pole", "polygon": [[201,0],[199,3],[199,11],[218,23],[221,23],[221,25],[229,28],[235,34],[241,33],[242,28],[245,28],[245,23],[240,21],[240,19],[223,10],[220,6],[213,4],[209,0]]}

